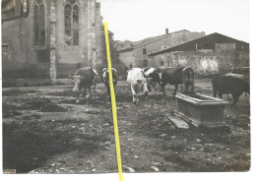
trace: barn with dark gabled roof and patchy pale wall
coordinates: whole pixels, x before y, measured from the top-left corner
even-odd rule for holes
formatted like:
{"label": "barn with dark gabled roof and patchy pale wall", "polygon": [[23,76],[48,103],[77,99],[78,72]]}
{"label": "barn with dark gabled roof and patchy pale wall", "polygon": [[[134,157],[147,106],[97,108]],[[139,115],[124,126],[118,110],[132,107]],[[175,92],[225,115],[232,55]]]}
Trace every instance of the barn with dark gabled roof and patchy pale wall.
{"label": "barn with dark gabled roof and patchy pale wall", "polygon": [[193,68],[197,75],[249,67],[249,43],[217,32],[148,55],[149,66],[187,66]]}

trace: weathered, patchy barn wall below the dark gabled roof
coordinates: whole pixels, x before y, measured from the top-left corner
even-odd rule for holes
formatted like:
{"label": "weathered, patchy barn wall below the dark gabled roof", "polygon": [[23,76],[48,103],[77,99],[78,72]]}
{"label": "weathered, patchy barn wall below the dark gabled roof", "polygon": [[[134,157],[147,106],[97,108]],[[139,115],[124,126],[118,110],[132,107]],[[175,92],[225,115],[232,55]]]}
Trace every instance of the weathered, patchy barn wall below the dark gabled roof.
{"label": "weathered, patchy barn wall below the dark gabled roof", "polygon": [[[151,57],[150,66],[191,67],[198,75],[210,75],[234,67],[244,67],[249,62],[249,52],[235,50],[173,51]],[[246,63],[247,62],[247,63]]]}

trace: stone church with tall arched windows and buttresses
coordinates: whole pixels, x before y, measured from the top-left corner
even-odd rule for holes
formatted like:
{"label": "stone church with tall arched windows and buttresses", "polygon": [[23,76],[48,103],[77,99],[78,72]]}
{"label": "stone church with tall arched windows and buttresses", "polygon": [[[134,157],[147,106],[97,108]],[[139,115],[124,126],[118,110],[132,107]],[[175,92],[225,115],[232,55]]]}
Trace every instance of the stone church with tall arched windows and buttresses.
{"label": "stone church with tall arched windows and buttresses", "polygon": [[[1,5],[4,79],[56,80],[81,66],[106,64],[96,0],[2,0]],[[109,31],[111,48],[112,38]]]}

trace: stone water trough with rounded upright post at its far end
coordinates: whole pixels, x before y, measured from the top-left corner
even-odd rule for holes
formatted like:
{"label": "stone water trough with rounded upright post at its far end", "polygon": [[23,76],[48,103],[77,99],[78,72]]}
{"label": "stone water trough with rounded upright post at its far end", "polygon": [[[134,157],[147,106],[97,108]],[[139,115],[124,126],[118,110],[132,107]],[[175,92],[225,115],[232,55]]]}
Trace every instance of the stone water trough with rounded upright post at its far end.
{"label": "stone water trough with rounded upright post at its far end", "polygon": [[228,104],[220,98],[194,92],[194,72],[185,68],[182,72],[182,93],[176,94],[178,115],[196,127],[228,128],[224,121],[224,107]]}

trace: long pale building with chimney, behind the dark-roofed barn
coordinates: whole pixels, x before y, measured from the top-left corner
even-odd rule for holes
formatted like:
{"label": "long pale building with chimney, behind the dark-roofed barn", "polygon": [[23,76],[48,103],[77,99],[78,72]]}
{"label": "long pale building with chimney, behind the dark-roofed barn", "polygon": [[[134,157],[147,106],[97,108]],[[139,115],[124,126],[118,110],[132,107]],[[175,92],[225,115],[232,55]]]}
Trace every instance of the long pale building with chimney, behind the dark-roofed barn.
{"label": "long pale building with chimney, behind the dark-roofed barn", "polygon": [[118,51],[119,59],[126,67],[129,67],[130,64],[133,67],[148,67],[151,60],[150,53],[160,48],[171,47],[204,35],[205,32],[191,32],[189,30],[178,30],[168,33],[166,29],[165,34],[133,42],[128,44],[127,47],[120,49]]}

